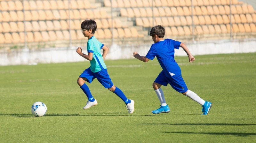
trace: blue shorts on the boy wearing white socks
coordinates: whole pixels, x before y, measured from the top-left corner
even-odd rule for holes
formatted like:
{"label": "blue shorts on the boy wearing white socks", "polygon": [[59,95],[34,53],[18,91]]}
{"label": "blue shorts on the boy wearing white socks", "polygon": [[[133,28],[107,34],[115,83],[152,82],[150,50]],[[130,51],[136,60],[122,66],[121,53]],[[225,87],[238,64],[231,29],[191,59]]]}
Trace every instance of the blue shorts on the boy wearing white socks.
{"label": "blue shorts on the boy wearing white socks", "polygon": [[167,86],[168,83],[171,85],[173,89],[180,93],[184,93],[188,91],[188,87],[186,86],[184,80],[182,79],[181,73],[175,74],[173,76],[166,76],[164,71],[160,72],[158,77],[155,80],[156,83],[161,84],[163,86]]}

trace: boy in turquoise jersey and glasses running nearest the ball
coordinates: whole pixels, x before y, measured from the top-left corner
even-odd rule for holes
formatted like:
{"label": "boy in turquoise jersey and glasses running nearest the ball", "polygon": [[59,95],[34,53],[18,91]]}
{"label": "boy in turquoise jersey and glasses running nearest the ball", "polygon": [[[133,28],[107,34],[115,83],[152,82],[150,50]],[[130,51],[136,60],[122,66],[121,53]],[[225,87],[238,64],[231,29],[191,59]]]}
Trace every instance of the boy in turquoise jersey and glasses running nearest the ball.
{"label": "boy in turquoise jersey and glasses running nearest the ball", "polygon": [[[85,81],[92,83],[93,79],[98,79],[98,81],[108,90],[114,92],[118,97],[120,97],[126,104],[126,108],[129,113],[134,111],[134,101],[127,99],[124,93],[117,87],[115,87],[108,75],[107,67],[104,63],[104,59],[108,53],[108,47],[100,43],[93,34],[97,29],[97,24],[93,19],[84,20],[81,24],[81,31],[84,37],[88,38],[87,42],[87,52],[88,55],[82,53],[82,49],[78,47],[76,49],[77,54],[89,60],[91,66],[84,70],[84,72],[77,79],[77,84],[86,94],[88,101],[83,109],[88,109],[92,106],[98,104],[96,99],[93,98],[89,87],[84,83]],[[103,49],[103,54],[101,55],[100,49]]]}

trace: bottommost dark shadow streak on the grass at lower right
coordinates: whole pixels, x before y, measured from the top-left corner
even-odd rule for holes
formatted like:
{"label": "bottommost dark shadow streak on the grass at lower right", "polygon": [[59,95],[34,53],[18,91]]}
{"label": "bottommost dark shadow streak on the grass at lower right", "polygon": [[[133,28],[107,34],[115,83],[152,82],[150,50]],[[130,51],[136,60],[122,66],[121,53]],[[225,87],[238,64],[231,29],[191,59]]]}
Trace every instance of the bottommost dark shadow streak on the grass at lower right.
{"label": "bottommost dark shadow streak on the grass at lower right", "polygon": [[246,137],[249,135],[255,136],[256,133],[244,133],[244,132],[162,132],[162,133],[184,133],[184,134],[207,134],[207,135],[233,135]]}

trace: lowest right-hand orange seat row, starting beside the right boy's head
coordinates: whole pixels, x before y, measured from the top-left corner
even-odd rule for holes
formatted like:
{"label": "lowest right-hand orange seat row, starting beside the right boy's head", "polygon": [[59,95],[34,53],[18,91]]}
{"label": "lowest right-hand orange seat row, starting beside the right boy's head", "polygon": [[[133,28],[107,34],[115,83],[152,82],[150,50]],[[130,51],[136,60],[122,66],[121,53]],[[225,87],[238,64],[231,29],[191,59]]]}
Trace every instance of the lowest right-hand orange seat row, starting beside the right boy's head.
{"label": "lowest right-hand orange seat row, starting beside the right boy's head", "polygon": [[[165,27],[165,35],[167,36],[183,36],[183,35],[192,35],[192,26],[172,26]],[[254,23],[250,24],[232,24],[233,33],[251,33],[256,32],[256,26]],[[221,25],[198,25],[194,28],[194,35],[203,35],[203,34],[228,34],[230,33],[230,24],[221,24]]]}

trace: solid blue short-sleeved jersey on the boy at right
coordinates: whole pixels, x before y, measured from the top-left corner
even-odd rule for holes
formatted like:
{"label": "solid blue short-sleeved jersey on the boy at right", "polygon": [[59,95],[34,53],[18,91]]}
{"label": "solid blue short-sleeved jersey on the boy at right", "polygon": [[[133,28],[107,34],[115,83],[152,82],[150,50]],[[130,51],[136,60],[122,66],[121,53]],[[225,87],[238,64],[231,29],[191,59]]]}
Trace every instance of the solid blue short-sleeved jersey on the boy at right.
{"label": "solid blue short-sleeved jersey on the boy at right", "polygon": [[180,49],[179,41],[165,39],[158,41],[150,47],[146,57],[153,60],[156,56],[166,76],[181,73],[179,65],[174,60],[174,49]]}

